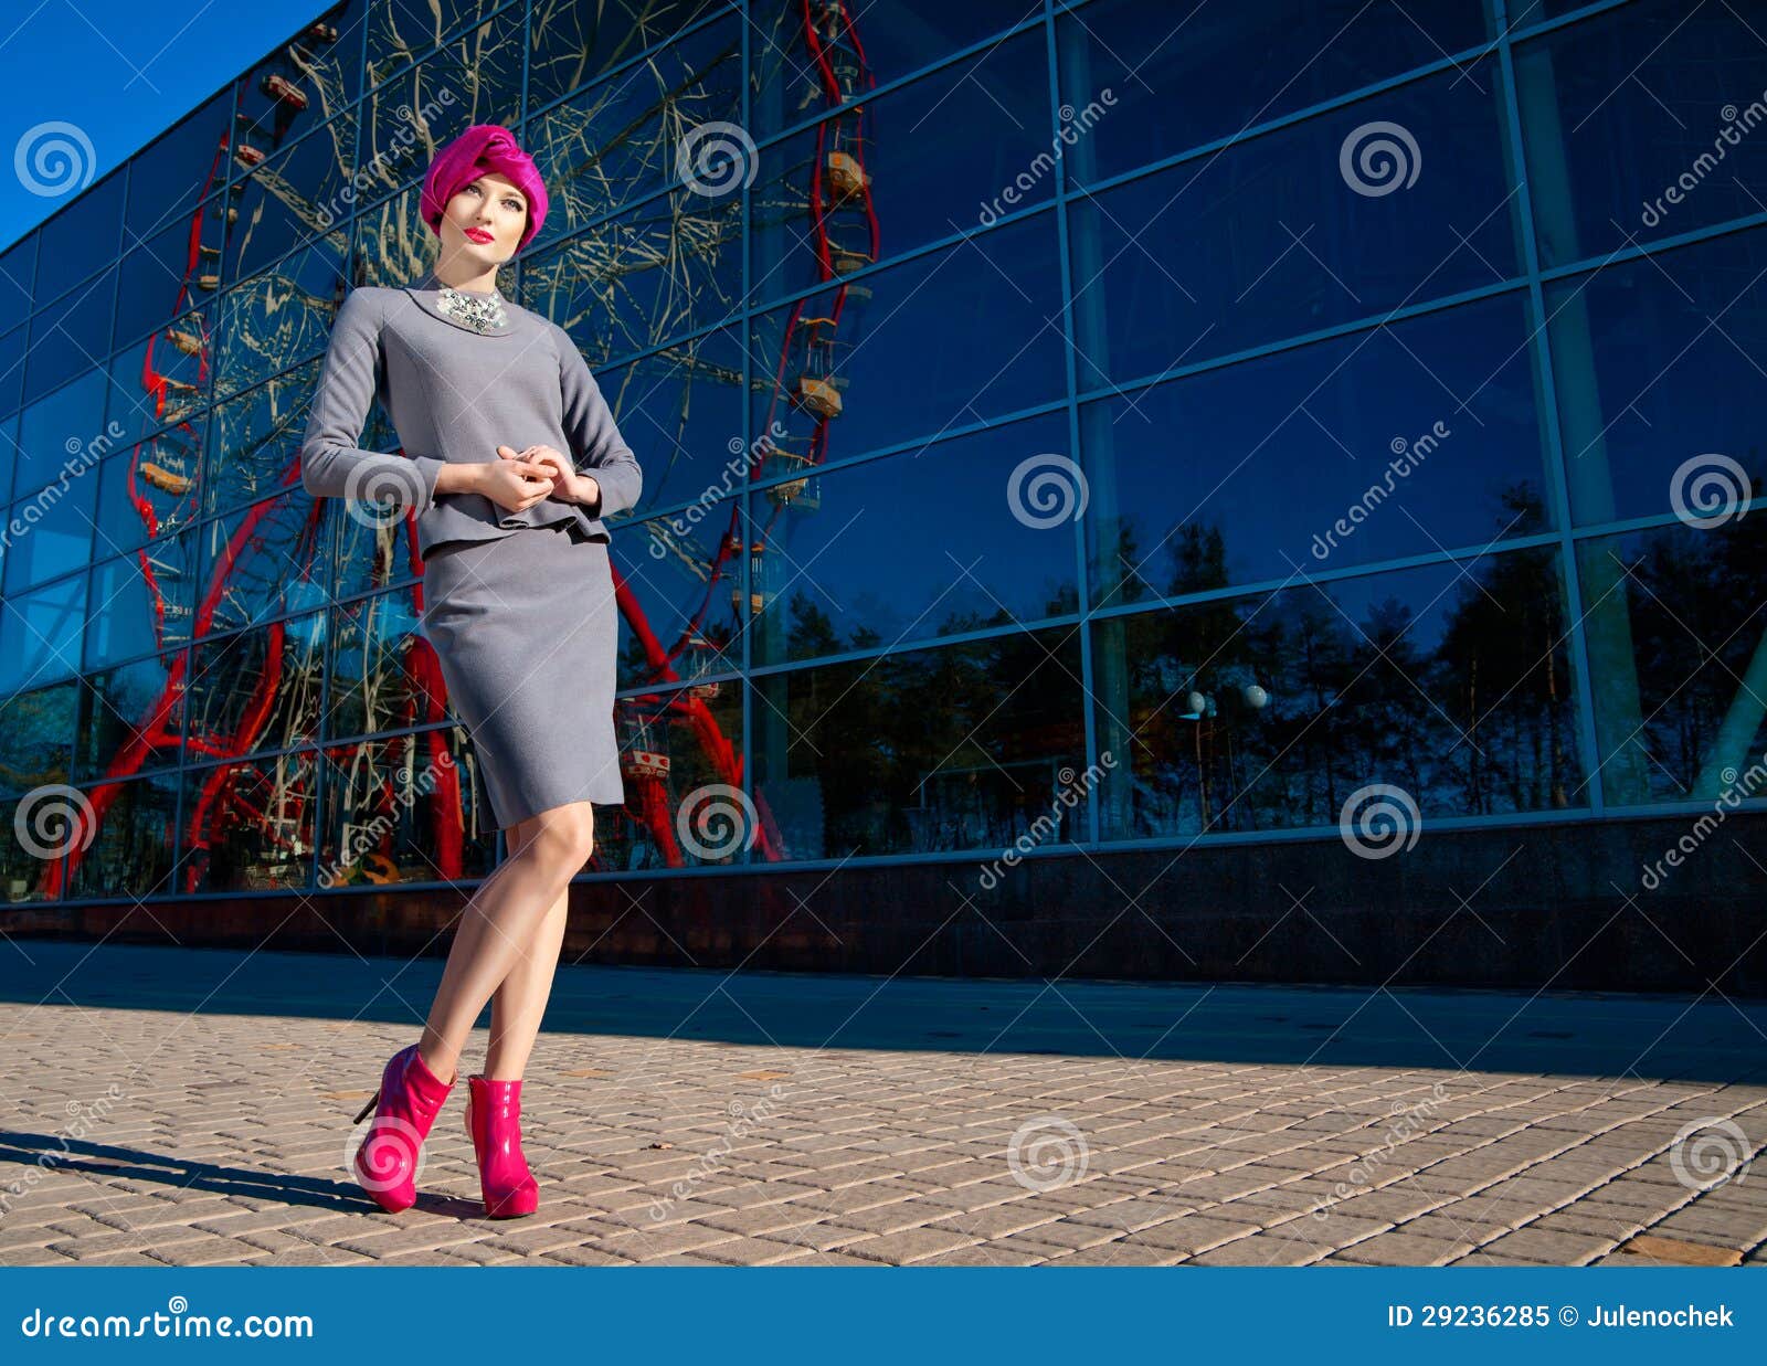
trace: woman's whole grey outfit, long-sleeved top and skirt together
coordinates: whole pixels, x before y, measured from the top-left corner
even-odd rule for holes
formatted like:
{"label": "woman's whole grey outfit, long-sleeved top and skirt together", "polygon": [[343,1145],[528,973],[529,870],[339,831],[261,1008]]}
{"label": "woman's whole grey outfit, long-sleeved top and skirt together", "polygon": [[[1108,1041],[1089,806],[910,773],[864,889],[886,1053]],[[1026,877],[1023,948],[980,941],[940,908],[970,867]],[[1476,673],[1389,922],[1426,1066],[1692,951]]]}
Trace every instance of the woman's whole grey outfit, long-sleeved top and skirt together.
{"label": "woman's whole grey outfit, long-sleeved top and skirt together", "polygon": [[[472,733],[497,825],[509,827],[565,802],[626,801],[601,518],[638,502],[641,472],[569,332],[507,299],[504,313],[502,329],[479,330],[433,272],[352,290],[313,396],[300,482],[364,500],[378,521],[375,500],[417,509],[422,633]],[[376,398],[405,454],[357,447]],[[475,493],[436,498],[444,463],[491,461],[498,445],[564,452],[594,474],[599,504],[546,498],[509,512]]]}

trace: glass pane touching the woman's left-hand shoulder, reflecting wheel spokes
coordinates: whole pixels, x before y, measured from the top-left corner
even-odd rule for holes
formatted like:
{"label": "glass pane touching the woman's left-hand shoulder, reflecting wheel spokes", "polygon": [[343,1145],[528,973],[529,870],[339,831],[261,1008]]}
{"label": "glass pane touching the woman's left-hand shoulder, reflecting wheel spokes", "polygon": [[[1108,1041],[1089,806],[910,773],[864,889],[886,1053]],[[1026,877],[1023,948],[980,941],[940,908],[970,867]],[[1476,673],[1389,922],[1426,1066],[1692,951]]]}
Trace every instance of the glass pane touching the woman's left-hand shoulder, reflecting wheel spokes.
{"label": "glass pane touching the woman's left-hand shoulder, reflecting wheel spokes", "polygon": [[228,290],[221,299],[216,399],[323,353],[343,293],[343,274],[327,251],[297,253]]}

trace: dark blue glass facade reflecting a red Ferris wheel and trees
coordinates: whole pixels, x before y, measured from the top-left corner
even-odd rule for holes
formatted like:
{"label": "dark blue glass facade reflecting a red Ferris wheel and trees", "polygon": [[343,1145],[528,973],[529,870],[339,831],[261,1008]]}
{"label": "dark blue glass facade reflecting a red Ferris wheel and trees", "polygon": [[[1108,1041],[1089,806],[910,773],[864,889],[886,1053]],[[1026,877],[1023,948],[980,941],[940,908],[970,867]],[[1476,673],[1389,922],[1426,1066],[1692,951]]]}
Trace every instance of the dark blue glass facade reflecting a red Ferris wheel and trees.
{"label": "dark blue glass facade reflecting a red Ferris wheel and trees", "polygon": [[7,899],[495,868],[413,523],[299,477],[475,122],[645,470],[590,875],[1709,806],[1767,742],[1762,18],[337,5],[0,251],[0,802],[81,827]]}

